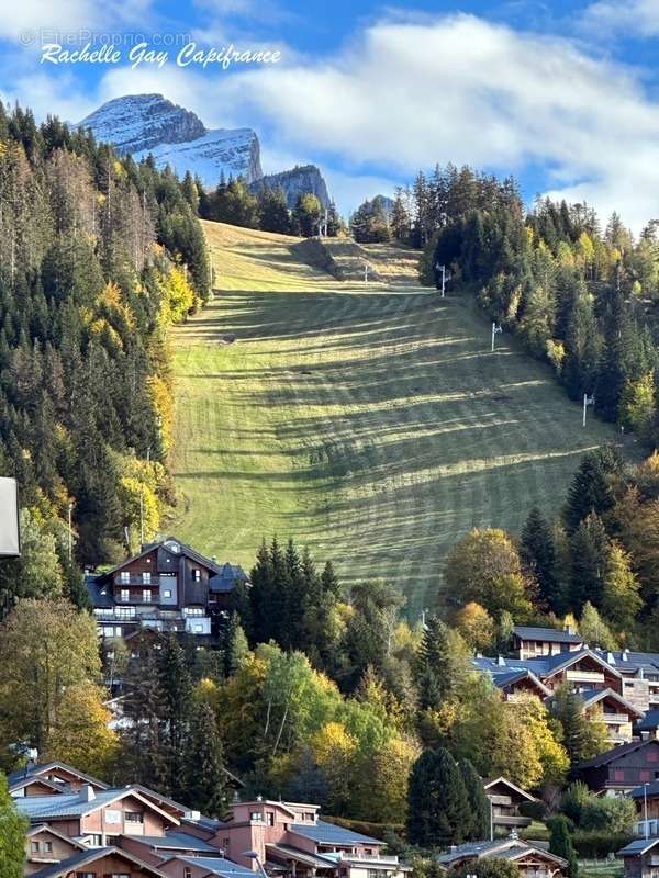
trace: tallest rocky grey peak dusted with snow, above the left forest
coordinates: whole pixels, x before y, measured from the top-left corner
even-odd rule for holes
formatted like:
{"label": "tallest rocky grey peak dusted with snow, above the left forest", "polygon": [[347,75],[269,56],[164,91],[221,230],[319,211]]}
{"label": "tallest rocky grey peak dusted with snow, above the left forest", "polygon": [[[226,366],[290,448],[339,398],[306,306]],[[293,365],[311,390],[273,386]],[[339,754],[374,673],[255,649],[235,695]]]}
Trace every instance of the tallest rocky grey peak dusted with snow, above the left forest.
{"label": "tallest rocky grey peak dusted with snow, above the left forest", "polygon": [[97,140],[131,153],[136,161],[153,155],[158,167],[170,165],[182,177],[197,175],[213,189],[220,177],[263,177],[258,137],[252,128],[208,130],[198,115],[161,94],[127,94],[108,101],[79,127]]}

